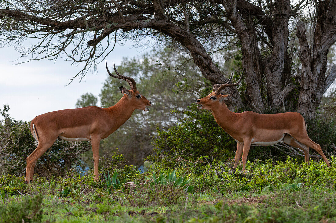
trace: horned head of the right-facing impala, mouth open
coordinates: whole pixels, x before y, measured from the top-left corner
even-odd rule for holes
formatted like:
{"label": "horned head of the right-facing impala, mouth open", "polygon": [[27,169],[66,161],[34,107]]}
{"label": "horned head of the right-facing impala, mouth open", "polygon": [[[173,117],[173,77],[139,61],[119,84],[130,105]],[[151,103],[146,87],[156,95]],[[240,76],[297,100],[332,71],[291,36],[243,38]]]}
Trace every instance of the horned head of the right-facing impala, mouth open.
{"label": "horned head of the right-facing impala, mouth open", "polygon": [[130,86],[130,90],[128,90],[127,88],[121,86],[120,92],[122,94],[124,94],[123,98],[125,98],[126,100],[128,100],[128,102],[135,107],[135,109],[140,109],[140,110],[144,110],[144,111],[149,111],[149,106],[152,105],[152,102],[149,101],[148,99],[146,99],[146,97],[144,97],[143,95],[141,95],[137,90],[136,90],[136,84],[135,84],[135,80],[132,77],[128,77],[128,76],[124,76],[121,75],[120,73],[118,73],[115,64],[113,64],[114,67],[114,71],[116,72],[117,75],[114,75],[110,72],[108,66],[107,66],[107,62],[106,62],[106,69],[107,72],[110,74],[110,76],[115,77],[115,78],[119,78],[119,79],[123,79],[126,80]]}

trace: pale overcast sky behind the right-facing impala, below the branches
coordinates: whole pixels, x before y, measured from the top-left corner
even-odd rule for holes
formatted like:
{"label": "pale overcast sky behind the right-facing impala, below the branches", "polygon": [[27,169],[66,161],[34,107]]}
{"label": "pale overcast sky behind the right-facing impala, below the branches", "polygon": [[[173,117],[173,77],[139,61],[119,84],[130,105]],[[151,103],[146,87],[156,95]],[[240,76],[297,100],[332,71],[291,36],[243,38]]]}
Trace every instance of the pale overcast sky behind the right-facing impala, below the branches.
{"label": "pale overcast sky behind the right-facing impala, below the branches", "polygon": [[[13,46],[0,48],[0,52],[0,109],[9,105],[8,113],[16,120],[29,121],[46,112],[74,108],[81,95],[90,92],[98,96],[108,75],[105,64],[100,63],[96,73],[89,71],[81,82],[78,78],[68,85],[69,79],[82,69],[81,64],[76,67],[61,58],[56,62],[44,59],[17,64],[14,60],[19,53]],[[112,67],[113,63],[119,65],[122,57],[143,53],[143,49],[126,42],[123,46],[116,44],[106,60]]]}

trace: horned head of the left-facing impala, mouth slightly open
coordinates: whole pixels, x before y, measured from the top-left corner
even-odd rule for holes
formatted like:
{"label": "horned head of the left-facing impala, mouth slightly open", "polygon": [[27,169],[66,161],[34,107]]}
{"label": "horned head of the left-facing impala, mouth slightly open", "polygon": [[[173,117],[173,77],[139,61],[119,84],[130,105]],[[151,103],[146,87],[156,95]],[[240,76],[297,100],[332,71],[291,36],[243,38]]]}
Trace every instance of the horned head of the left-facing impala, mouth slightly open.
{"label": "horned head of the left-facing impala, mouth slightly open", "polygon": [[[214,85],[212,88],[212,92],[201,99],[196,100],[196,104],[198,105],[198,109],[205,109],[205,110],[214,110],[218,108],[218,106],[222,105],[224,103],[224,100],[230,99],[232,95],[224,95],[223,93],[220,93],[220,91],[225,87],[232,87],[239,85],[240,81],[242,80],[242,75],[240,76],[239,80],[236,83],[229,83],[232,80],[233,73],[230,77],[230,79],[224,83],[223,85]],[[224,103],[225,104],[225,103]]]}

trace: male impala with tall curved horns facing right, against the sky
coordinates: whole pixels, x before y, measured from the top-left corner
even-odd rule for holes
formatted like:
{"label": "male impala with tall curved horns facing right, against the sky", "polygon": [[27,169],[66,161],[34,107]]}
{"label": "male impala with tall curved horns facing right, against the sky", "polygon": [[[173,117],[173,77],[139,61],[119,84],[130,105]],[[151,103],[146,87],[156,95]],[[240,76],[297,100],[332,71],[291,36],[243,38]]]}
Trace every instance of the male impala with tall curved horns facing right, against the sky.
{"label": "male impala with tall curved horns facing right, against the sky", "polygon": [[30,130],[38,141],[38,146],[27,157],[25,182],[33,181],[34,167],[38,158],[52,146],[58,138],[66,141],[91,141],[94,160],[94,179],[98,180],[99,143],[108,137],[129,119],[135,109],[149,111],[152,102],[136,90],[133,78],[118,73],[112,74],[106,63],[110,76],[126,80],[131,88],[120,87],[124,96],[112,107],[99,108],[89,106],[84,108],[66,109],[45,113],[35,117],[30,123]]}

